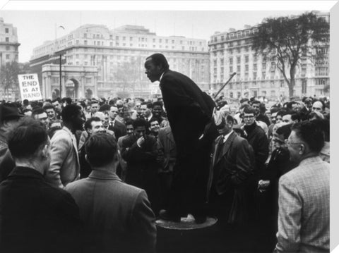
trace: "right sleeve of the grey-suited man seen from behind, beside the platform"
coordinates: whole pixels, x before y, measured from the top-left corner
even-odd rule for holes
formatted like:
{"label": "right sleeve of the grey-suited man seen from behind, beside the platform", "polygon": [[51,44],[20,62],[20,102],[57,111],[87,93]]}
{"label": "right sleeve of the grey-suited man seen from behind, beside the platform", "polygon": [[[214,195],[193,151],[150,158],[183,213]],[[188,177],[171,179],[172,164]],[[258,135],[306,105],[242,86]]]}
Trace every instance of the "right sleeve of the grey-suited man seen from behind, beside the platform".
{"label": "right sleeve of the grey-suited man seen from behind, beside the platform", "polygon": [[138,252],[155,252],[157,228],[155,227],[155,216],[150,209],[150,202],[146,192],[142,190],[136,198],[135,207],[131,216],[131,227]]}

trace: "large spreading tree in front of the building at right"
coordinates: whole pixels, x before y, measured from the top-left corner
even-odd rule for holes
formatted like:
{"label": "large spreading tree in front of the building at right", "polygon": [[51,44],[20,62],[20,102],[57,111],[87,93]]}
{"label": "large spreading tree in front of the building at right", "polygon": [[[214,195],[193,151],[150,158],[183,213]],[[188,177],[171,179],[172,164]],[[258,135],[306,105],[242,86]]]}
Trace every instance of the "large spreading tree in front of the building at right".
{"label": "large spreading tree in front of the building at right", "polygon": [[[266,18],[252,38],[252,49],[275,60],[293,97],[297,64],[311,44],[328,42],[329,24],[314,13],[297,17]],[[289,73],[290,75],[287,75]]]}

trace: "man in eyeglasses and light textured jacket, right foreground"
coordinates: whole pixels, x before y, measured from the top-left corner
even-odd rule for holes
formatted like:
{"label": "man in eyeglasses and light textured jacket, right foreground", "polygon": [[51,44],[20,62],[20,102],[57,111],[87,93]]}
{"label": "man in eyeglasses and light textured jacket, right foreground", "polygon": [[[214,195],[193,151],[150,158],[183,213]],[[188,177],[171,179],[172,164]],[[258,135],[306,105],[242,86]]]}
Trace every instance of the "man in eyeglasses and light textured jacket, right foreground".
{"label": "man in eyeglasses and light textured jacket, right foreground", "polygon": [[330,251],[330,166],[319,156],[323,142],[319,124],[292,125],[287,147],[299,166],[279,180],[274,252]]}

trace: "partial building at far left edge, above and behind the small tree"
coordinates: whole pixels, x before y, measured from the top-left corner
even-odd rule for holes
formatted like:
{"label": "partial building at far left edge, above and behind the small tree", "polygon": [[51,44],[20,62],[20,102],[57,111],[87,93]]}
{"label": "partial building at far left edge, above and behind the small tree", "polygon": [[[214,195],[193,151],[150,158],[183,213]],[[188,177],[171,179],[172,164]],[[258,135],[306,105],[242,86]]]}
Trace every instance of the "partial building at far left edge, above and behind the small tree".
{"label": "partial building at far left edge, above and behind the small tree", "polygon": [[[18,62],[18,32],[13,24],[4,23],[0,17],[0,70],[12,62]],[[6,94],[5,94],[6,92]],[[4,90],[4,84],[0,86],[0,97],[2,99],[13,99],[18,93],[18,87],[8,87]]]}

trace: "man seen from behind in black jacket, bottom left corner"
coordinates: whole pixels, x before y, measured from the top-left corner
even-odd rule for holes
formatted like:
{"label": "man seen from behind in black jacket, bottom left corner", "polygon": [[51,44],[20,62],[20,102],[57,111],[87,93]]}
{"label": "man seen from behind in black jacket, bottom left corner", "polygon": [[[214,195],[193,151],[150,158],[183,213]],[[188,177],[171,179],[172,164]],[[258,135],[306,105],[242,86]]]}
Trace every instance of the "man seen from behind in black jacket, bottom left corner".
{"label": "man seen from behind in black jacket, bottom left corner", "polygon": [[81,252],[78,206],[44,178],[51,159],[47,131],[25,118],[8,148],[16,167],[0,185],[0,252]]}

